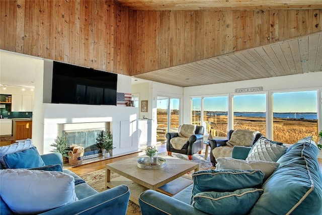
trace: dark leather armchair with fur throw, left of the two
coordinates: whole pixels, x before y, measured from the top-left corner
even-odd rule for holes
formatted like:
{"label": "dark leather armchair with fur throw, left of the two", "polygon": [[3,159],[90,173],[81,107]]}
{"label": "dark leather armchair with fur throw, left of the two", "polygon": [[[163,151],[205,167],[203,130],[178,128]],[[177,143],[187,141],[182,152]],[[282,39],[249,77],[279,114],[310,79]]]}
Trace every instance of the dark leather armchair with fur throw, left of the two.
{"label": "dark leather armchair with fur throw, left of the two", "polygon": [[203,149],[204,127],[190,124],[179,126],[178,132],[166,133],[167,151],[171,156],[172,152],[188,155],[192,160],[192,155],[199,153]]}

